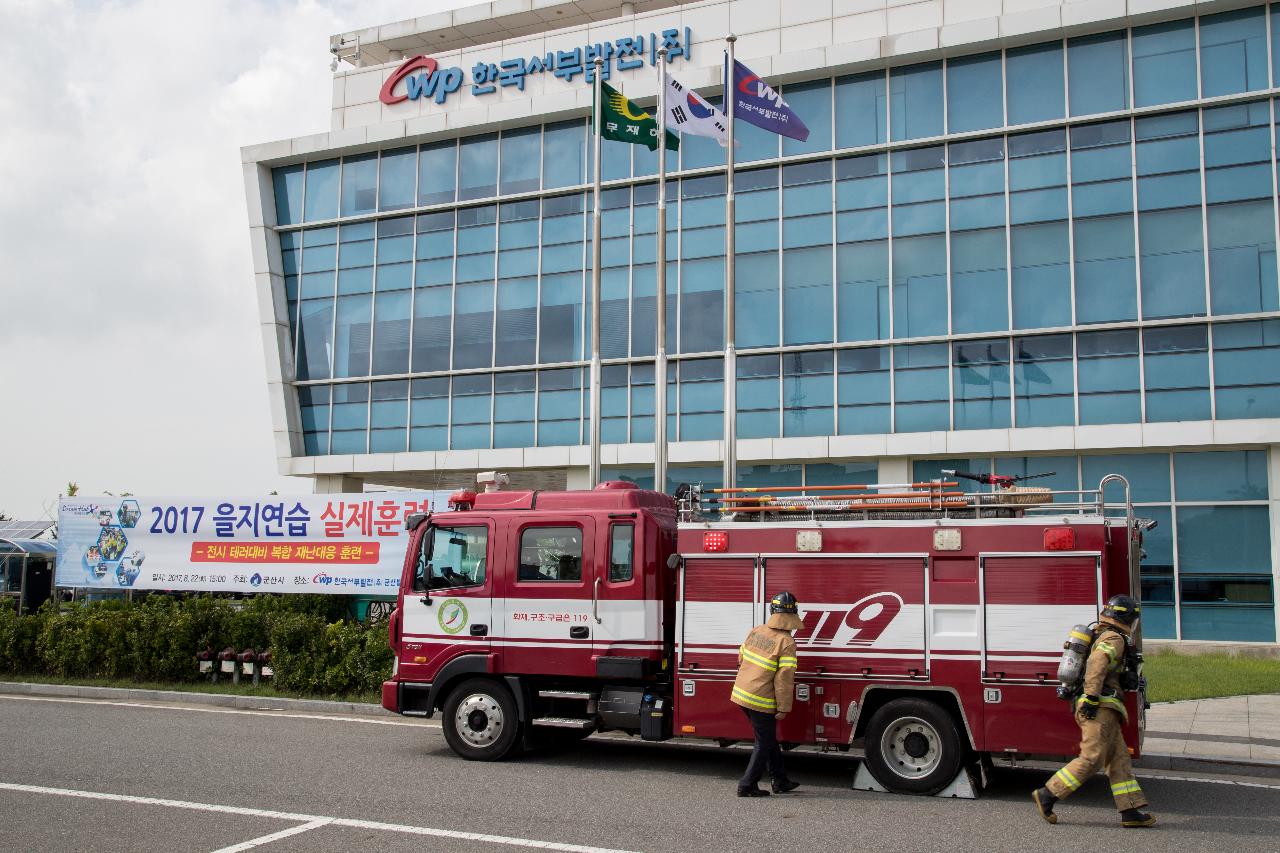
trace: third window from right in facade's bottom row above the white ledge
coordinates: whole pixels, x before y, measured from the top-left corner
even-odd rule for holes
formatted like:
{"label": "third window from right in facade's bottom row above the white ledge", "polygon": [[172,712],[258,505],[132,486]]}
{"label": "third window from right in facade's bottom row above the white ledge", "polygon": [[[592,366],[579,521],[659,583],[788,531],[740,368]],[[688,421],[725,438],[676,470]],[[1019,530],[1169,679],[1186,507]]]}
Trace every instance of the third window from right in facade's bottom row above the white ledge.
{"label": "third window from right in facade's bottom row above the white ledge", "polygon": [[1082,424],[1142,420],[1138,333],[1132,329],[1076,336]]}

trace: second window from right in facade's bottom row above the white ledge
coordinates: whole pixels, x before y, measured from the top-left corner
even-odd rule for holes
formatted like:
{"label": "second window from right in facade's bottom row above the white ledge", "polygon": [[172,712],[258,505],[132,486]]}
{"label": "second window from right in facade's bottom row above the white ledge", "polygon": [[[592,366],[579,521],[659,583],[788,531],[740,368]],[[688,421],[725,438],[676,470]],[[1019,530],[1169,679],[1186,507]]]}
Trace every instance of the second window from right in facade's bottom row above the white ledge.
{"label": "second window from right in facade's bottom row above the white ledge", "polygon": [[1143,332],[1147,420],[1208,420],[1208,341],[1203,325]]}

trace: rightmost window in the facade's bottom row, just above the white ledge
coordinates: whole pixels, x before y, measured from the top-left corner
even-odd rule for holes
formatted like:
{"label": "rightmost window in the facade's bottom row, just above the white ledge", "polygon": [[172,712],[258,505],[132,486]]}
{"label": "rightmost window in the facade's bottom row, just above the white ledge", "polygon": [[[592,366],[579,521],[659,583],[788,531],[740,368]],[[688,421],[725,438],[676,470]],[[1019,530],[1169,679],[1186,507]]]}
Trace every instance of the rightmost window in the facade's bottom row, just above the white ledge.
{"label": "rightmost window in the facade's bottom row, just above the white ledge", "polygon": [[1280,320],[1213,327],[1217,418],[1280,418]]}

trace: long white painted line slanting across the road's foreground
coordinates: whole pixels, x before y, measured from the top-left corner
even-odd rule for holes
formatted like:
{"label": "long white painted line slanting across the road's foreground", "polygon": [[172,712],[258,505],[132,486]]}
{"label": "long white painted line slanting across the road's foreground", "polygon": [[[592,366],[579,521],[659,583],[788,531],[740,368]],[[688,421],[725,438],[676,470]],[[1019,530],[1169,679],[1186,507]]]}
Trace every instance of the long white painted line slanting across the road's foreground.
{"label": "long white painted line slanting across the road's foreground", "polygon": [[[96,790],[74,790],[70,788],[46,788],[44,785],[22,785],[18,783],[0,781],[0,790],[13,790],[24,794],[47,794],[50,797],[77,797],[81,799],[101,799],[113,803],[134,803],[138,806],[161,806],[165,808],[186,808],[197,812],[219,812],[223,815],[243,815],[247,817],[269,817],[282,821],[296,821],[298,824],[316,824],[326,826],[349,826],[352,829],[371,829],[384,833],[401,833],[404,835],[430,835],[433,838],[448,838],[460,841],[485,841],[488,844],[506,844],[508,847],[531,847],[541,850],[564,850],[564,853],[627,853],[604,847],[589,847],[585,844],[562,844],[559,841],[540,841],[531,838],[516,838],[511,835],[488,835],[484,833],[465,833],[461,830],[436,829],[433,826],[412,826],[408,824],[381,824],[378,821],[362,821],[351,817],[326,817],[324,815],[300,815],[294,812],[273,812],[265,808],[248,808],[244,806],[221,806],[218,803],[193,803],[184,799],[160,799],[157,797],[134,797],[133,794],[108,794]],[[294,831],[303,831],[302,827],[292,827]],[[306,829],[314,829],[307,826]],[[264,841],[269,836],[253,839]],[[283,838],[283,836],[282,836]],[[248,841],[246,841],[248,844]],[[248,848],[227,848],[248,849]]]}

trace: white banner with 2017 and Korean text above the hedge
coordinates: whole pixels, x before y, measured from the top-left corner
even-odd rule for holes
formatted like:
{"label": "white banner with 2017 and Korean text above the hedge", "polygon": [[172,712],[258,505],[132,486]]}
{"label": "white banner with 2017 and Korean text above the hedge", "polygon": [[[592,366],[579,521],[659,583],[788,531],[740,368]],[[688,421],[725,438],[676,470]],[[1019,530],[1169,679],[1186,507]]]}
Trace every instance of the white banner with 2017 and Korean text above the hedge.
{"label": "white banner with 2017 and Korean text above the hedge", "polygon": [[91,497],[58,506],[59,587],[393,596],[415,512],[449,492]]}

